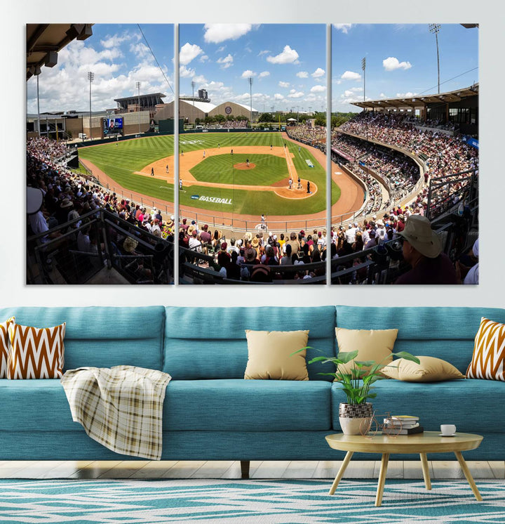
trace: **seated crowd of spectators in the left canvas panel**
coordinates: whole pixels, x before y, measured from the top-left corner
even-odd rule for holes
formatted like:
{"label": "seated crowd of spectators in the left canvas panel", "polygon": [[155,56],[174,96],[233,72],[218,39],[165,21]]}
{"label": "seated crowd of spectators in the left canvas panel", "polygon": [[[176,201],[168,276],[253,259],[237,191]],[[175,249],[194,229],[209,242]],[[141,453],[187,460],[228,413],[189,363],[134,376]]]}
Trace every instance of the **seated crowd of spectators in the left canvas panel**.
{"label": "seated crowd of spectators in the left canvas panel", "polygon": [[[156,237],[173,240],[173,217],[164,221],[159,209],[148,209],[119,198],[116,193],[73,173],[66,167],[67,152],[65,143],[47,138],[34,138],[27,143],[27,187],[38,188],[43,193],[41,209],[28,215],[28,236],[46,233],[39,239],[45,243],[76,230],[75,235],[65,237],[65,247],[97,254],[100,238],[97,230],[86,224],[93,219],[92,211],[103,208],[126,221],[123,225],[116,221],[115,227],[108,228],[115,254],[140,257],[146,254],[137,240],[140,237],[153,246]],[[61,227],[68,222],[72,223]],[[134,271],[140,277],[153,276],[142,267],[141,261],[135,263]]]}

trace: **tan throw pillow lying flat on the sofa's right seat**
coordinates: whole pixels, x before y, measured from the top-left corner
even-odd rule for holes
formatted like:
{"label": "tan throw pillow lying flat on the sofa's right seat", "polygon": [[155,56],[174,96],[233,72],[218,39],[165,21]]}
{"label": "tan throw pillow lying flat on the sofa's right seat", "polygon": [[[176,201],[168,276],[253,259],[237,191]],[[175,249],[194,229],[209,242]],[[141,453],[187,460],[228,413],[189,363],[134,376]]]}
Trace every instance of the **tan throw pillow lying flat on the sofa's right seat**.
{"label": "tan throw pillow lying flat on the sofa's right seat", "polygon": [[[418,356],[419,364],[405,358],[391,362],[391,367],[382,368],[382,373],[390,379],[405,382],[440,382],[443,380],[464,379],[464,374],[449,362],[436,357]],[[396,367],[393,367],[396,366]]]}

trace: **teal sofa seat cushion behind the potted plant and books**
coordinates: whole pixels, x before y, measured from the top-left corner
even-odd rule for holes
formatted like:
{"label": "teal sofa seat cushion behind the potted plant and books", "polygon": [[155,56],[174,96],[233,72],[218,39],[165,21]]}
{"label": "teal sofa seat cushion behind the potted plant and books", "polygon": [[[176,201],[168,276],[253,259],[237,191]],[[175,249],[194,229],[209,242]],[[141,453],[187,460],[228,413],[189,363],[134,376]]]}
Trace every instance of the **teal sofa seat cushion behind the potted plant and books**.
{"label": "teal sofa seat cushion behind the potted plant and books", "polygon": [[[456,424],[462,433],[505,433],[505,384],[489,380],[459,379],[443,382],[382,380],[375,384],[372,402],[375,417],[415,415],[425,430],[438,431],[440,424]],[[346,402],[340,384],[332,384],[332,424],[339,429],[339,402]]]}

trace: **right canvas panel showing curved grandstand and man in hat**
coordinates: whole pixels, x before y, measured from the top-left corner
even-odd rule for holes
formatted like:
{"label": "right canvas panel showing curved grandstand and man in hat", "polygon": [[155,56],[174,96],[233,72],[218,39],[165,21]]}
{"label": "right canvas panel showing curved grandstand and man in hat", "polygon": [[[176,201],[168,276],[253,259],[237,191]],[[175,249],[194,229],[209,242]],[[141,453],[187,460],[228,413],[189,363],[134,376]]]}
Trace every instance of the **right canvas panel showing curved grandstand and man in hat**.
{"label": "right canvas panel showing curved grandstand and man in hat", "polygon": [[478,284],[478,33],[332,25],[332,284]]}

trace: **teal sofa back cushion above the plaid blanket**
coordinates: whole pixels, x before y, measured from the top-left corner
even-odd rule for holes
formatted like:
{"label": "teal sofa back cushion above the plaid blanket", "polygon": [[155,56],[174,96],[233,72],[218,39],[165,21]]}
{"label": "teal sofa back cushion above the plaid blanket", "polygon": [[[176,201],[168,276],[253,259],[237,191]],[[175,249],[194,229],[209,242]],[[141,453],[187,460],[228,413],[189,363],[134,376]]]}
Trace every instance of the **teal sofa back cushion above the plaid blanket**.
{"label": "teal sofa back cushion above the plaid blanket", "polygon": [[15,316],[25,326],[67,323],[65,367],[133,365],[161,369],[163,306],[138,308],[0,308],[0,318]]}

